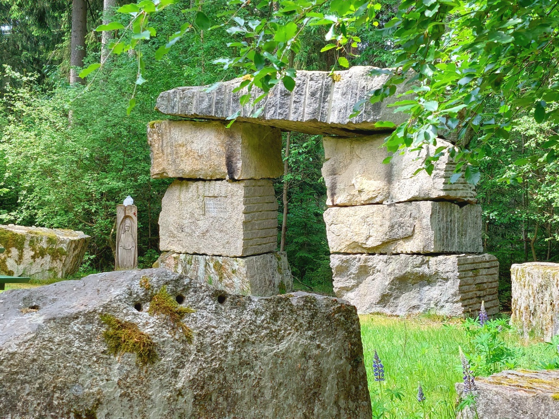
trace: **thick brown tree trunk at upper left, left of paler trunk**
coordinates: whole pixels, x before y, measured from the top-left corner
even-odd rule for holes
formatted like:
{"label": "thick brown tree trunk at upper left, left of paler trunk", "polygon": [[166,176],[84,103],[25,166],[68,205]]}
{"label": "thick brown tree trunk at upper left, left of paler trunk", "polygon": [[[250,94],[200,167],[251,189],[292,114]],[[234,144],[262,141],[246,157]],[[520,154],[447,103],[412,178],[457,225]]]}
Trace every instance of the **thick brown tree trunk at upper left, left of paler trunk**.
{"label": "thick brown tree trunk at upper left, left of paler trunk", "polygon": [[72,0],[72,35],[70,37],[70,84],[84,83],[78,77],[79,68],[86,58],[87,3],[86,0]]}

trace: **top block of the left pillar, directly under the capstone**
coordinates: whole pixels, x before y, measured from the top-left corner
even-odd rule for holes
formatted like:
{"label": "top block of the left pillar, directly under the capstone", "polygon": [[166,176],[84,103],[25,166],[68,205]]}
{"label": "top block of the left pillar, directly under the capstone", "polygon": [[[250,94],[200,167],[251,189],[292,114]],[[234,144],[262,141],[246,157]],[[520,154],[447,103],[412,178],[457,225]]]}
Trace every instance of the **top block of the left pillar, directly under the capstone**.
{"label": "top block of the left pillar, directly under the capstone", "polygon": [[148,125],[151,177],[263,179],[283,174],[278,128],[220,121],[159,121]]}

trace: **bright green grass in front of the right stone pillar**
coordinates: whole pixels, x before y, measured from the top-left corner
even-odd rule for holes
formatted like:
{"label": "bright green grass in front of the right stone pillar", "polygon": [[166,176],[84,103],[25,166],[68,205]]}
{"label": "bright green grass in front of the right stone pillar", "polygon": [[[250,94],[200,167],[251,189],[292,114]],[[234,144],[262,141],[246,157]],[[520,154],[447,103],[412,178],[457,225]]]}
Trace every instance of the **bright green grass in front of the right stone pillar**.
{"label": "bright green grass in front of the right stone pillar", "polygon": [[[452,321],[445,327],[442,322],[425,317],[361,316],[364,361],[373,410],[378,403],[387,409],[384,416],[373,417],[456,418],[454,383],[462,380],[458,345],[463,345],[466,340],[458,323]],[[541,369],[539,361],[553,358],[551,346],[543,342],[532,340],[525,344],[516,332],[505,340],[518,350],[518,368]],[[385,382],[375,382],[374,379],[375,349],[385,366]],[[418,382],[427,397],[424,406],[416,400]],[[391,397],[390,392],[395,390],[401,392],[401,401]],[[377,408],[377,412],[380,411]]]}

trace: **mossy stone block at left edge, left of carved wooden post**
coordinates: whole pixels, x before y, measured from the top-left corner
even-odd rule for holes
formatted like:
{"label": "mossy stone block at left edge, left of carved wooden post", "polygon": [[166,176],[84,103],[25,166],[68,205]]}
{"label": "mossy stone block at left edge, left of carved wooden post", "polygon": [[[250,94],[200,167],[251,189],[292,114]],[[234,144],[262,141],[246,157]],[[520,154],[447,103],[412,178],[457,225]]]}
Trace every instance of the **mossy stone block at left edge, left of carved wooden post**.
{"label": "mossy stone block at left edge, left of carved wooden post", "polygon": [[33,279],[66,278],[82,264],[90,237],[61,228],[0,225],[0,274]]}

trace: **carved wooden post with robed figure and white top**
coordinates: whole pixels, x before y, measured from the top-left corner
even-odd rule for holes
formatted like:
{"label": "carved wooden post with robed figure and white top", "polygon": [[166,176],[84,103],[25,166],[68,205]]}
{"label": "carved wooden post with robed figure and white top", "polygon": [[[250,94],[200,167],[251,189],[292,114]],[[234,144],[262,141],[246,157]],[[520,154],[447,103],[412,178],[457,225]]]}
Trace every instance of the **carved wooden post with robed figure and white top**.
{"label": "carved wooden post with robed figure and white top", "polygon": [[138,208],[132,198],[116,206],[115,270],[138,268]]}

